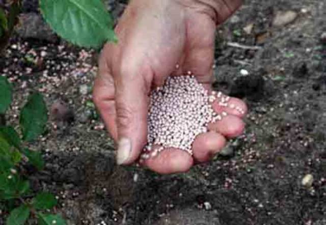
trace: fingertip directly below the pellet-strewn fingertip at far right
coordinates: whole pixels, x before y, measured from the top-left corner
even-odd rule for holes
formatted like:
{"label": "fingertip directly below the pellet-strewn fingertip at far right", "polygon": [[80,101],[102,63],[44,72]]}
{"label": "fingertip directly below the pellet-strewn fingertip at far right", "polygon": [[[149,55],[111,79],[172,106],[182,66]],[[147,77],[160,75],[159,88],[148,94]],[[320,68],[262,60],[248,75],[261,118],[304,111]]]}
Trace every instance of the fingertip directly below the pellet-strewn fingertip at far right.
{"label": "fingertip directly below the pellet-strewn fingertip at far right", "polygon": [[223,117],[222,120],[208,124],[209,131],[215,131],[222,135],[232,138],[239,136],[244,130],[243,121],[234,115]]}

